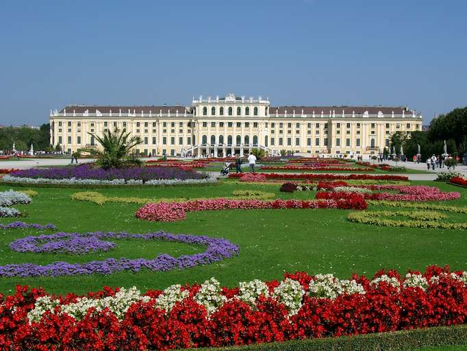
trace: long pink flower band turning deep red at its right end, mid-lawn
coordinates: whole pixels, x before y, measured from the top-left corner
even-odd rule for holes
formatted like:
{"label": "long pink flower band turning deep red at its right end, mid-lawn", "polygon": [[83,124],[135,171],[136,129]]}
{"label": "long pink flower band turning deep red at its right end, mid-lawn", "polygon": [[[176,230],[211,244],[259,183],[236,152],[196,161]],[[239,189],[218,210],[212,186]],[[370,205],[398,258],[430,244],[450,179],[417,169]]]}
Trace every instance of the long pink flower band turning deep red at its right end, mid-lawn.
{"label": "long pink flower band turning deep red at its right end, mid-lawn", "polygon": [[349,194],[342,199],[327,201],[275,199],[275,200],[232,200],[232,199],[201,199],[179,203],[160,202],[147,204],[136,211],[136,217],[147,221],[180,221],[186,219],[186,212],[202,210],[252,210],[281,208],[340,208],[363,210],[366,202],[362,195]]}

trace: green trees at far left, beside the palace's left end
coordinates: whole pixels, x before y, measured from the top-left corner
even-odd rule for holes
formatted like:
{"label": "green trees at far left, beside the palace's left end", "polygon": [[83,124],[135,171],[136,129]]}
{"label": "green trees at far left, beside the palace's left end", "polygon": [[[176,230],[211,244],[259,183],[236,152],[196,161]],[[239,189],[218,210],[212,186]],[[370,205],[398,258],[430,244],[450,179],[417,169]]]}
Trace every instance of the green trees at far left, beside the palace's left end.
{"label": "green trees at far left, beside the palace's left end", "polygon": [[35,151],[51,151],[50,125],[42,124],[39,129],[24,127],[1,127],[0,150],[28,151],[31,144]]}

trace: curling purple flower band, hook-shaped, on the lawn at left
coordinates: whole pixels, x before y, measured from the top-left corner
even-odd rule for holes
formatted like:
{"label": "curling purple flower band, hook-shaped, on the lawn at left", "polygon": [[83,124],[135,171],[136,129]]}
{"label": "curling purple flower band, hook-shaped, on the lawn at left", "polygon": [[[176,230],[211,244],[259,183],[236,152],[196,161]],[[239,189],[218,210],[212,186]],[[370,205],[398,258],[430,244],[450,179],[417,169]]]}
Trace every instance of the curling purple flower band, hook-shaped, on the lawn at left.
{"label": "curling purple flower band, hook-shaped, on the lawn at left", "polygon": [[[239,250],[237,245],[226,239],[188,234],[175,235],[162,231],[147,234],[129,234],[126,232],[88,232],[86,234],[78,234],[59,232],[18,239],[11,243],[10,247],[12,250],[20,252],[71,252],[73,254],[99,251],[103,248],[110,250],[114,247],[113,243],[103,242],[102,239],[177,241],[179,243],[206,245],[207,249],[205,252],[199,254],[182,255],[178,258],[169,254],[160,254],[153,259],[107,258],[103,261],[88,263],[54,262],[48,265],[36,265],[34,263],[4,265],[0,266],[0,276],[74,276],[81,274],[112,274],[117,271],[140,271],[140,269],[168,271],[222,261],[225,258],[238,254]],[[38,244],[41,245],[39,246]]]}

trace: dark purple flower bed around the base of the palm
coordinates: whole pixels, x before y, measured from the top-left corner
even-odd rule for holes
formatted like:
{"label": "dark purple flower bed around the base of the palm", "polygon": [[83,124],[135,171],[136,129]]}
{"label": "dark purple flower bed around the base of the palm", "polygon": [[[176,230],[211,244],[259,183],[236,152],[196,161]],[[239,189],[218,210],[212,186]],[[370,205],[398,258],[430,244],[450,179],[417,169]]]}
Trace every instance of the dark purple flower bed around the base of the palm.
{"label": "dark purple flower bed around the base of the palm", "polygon": [[21,169],[10,173],[21,178],[47,178],[47,179],[95,179],[95,180],[148,180],[157,179],[203,179],[207,175],[195,171],[187,171],[177,167],[127,167],[119,169],[94,169],[92,165],[85,164],[70,167],[50,167]]}

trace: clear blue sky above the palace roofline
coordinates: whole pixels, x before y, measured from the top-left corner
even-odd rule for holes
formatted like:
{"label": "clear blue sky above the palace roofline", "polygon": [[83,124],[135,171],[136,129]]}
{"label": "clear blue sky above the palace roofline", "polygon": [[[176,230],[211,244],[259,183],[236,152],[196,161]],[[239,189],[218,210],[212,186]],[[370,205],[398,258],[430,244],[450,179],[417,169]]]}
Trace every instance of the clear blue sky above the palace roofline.
{"label": "clear blue sky above the palace roofline", "polygon": [[467,1],[1,1],[0,124],[65,104],[467,105]]}

